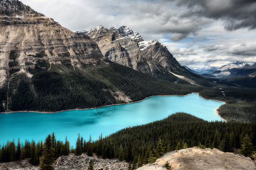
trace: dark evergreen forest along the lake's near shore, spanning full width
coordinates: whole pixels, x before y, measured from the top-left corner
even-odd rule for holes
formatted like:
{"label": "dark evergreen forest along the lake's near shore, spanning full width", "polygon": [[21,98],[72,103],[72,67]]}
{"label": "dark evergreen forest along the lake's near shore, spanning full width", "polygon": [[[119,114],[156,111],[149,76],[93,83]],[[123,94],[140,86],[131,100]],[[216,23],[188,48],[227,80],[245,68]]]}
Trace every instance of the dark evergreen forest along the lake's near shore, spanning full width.
{"label": "dark evergreen forest along the lake's near shore, spanning full width", "polygon": [[194,146],[250,156],[255,153],[255,130],[256,123],[208,122],[190,114],[176,113],[161,121],[122,129],[108,137],[100,135],[96,141],[91,137],[85,141],[78,134],[75,149],[70,149],[67,139],[56,141],[54,133],[37,145],[35,141],[24,144],[18,141],[17,146],[14,141],[7,142],[0,150],[0,162],[30,158],[30,163],[35,165],[40,158],[43,165],[51,167],[59,156],[73,152],[125,160],[131,168],[136,168],[153,163],[166,152]]}

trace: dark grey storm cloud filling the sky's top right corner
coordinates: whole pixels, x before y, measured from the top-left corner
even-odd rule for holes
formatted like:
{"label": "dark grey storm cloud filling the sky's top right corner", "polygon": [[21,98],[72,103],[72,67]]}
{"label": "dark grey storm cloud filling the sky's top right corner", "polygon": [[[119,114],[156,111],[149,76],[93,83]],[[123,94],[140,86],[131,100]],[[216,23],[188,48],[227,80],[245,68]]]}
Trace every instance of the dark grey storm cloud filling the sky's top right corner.
{"label": "dark grey storm cloud filling the sky's top right corner", "polygon": [[183,17],[206,17],[223,19],[225,29],[233,31],[240,28],[256,28],[256,1],[255,0],[171,0],[178,6],[186,6],[188,10]]}

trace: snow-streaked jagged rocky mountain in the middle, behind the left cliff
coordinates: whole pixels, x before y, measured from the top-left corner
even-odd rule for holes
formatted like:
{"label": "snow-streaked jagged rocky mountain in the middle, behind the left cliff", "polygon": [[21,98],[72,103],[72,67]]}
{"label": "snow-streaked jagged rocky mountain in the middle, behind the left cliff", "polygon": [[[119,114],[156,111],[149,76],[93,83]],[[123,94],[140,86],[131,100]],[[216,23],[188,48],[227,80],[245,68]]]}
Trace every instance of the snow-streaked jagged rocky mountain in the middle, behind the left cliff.
{"label": "snow-streaked jagged rocky mountain in the middle, behind the left cliff", "polygon": [[120,65],[171,82],[209,83],[181,66],[166,46],[157,40],[144,41],[138,32],[126,26],[107,29],[100,25],[85,34],[98,44],[103,56]]}

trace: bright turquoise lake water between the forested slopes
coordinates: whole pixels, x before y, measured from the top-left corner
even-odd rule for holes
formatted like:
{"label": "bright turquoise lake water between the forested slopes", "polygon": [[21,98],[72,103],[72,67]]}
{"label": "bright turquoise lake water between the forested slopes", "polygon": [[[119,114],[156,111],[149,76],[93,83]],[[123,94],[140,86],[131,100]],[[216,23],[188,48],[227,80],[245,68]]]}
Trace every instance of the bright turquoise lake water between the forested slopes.
{"label": "bright turquoise lake water between the forested slopes", "polygon": [[207,100],[198,94],[186,96],[154,96],[138,103],[111,105],[97,109],[63,111],[58,113],[15,112],[0,114],[0,145],[7,140],[15,143],[25,139],[38,142],[54,132],[56,139],[75,147],[78,133],[96,140],[128,126],[161,120],[176,112],[186,112],[207,121],[221,121],[215,109],[223,103]]}

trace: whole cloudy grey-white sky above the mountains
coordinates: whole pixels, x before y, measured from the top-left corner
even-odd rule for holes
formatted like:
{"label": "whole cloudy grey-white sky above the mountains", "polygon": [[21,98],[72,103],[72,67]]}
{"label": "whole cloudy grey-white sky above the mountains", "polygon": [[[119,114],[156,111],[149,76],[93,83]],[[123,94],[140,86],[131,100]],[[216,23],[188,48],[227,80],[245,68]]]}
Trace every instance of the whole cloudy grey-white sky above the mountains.
{"label": "whole cloudy grey-white sky above the mountains", "polygon": [[182,65],[256,61],[255,0],[20,0],[75,31],[127,25]]}

